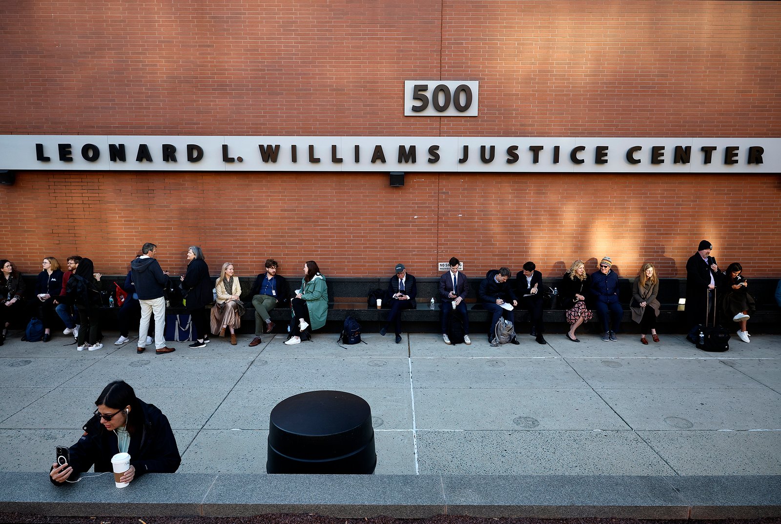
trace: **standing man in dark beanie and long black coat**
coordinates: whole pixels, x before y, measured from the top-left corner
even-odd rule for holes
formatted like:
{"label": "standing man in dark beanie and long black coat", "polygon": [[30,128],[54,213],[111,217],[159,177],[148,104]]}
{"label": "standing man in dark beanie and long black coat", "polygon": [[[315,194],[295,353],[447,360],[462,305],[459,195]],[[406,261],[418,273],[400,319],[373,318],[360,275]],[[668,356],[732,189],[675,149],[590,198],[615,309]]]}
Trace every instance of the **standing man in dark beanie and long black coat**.
{"label": "standing man in dark beanie and long black coat", "polygon": [[701,241],[697,252],[686,262],[686,319],[690,332],[686,338],[697,344],[697,326],[705,323],[706,314],[713,315],[715,289],[721,282],[722,273],[716,259],[711,257],[713,246]]}

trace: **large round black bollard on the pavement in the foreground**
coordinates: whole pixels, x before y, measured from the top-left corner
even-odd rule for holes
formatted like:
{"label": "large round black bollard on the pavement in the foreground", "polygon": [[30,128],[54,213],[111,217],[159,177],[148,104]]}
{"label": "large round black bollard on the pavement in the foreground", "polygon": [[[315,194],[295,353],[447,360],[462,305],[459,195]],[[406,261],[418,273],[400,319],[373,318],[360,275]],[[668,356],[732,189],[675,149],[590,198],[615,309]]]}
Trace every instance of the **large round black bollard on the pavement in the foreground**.
{"label": "large round black bollard on the pavement in the foreground", "polygon": [[371,474],[377,465],[372,410],[344,391],[308,391],[271,410],[269,473]]}

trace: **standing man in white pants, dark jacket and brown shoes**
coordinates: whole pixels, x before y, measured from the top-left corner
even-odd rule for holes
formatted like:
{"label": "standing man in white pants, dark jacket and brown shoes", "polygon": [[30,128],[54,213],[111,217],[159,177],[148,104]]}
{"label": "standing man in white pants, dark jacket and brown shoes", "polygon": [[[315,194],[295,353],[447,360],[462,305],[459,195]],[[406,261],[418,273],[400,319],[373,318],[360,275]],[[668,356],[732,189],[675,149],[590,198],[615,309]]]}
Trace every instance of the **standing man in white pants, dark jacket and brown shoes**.
{"label": "standing man in white pants, dark jacket and brown shoes", "polygon": [[160,263],[155,259],[157,246],[147,242],[141,247],[140,257],[130,262],[130,272],[136,287],[138,302],[141,304],[141,324],[138,326],[138,347],[136,352],[143,353],[146,344],[141,345],[141,340],[146,340],[149,331],[149,317],[155,315],[155,353],[162,355],[176,351],[166,346],[166,297],[165,288],[168,283],[168,272],[160,268]]}

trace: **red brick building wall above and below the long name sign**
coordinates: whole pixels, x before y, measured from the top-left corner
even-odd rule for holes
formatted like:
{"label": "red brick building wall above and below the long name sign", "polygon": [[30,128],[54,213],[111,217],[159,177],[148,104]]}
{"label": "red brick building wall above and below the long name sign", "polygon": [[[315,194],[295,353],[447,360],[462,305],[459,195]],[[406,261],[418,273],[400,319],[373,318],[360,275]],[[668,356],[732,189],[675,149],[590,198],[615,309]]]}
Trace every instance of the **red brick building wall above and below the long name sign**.
{"label": "red brick building wall above and below the long name sign", "polygon": [[[781,136],[779,2],[29,1],[0,25],[0,134]],[[403,116],[403,81],[438,78],[480,80],[480,116]],[[0,256],[123,273],[154,241],[173,272],[199,244],[240,275],[610,255],[683,276],[705,238],[779,276],[779,197],[759,175],[24,172]]]}

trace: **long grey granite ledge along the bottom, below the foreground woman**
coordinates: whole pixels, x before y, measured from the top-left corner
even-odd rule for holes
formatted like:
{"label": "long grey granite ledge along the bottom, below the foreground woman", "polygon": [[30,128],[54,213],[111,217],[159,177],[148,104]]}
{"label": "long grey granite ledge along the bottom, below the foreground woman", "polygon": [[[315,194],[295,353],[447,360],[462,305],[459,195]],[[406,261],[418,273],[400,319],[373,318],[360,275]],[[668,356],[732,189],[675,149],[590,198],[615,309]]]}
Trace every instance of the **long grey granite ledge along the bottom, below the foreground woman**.
{"label": "long grey granite ledge along the bottom, below the foreground woman", "polygon": [[[85,476],[86,477],[86,476]],[[755,519],[781,517],[781,476],[111,475],[57,487],[39,472],[0,472],[0,506],[35,515],[387,515]]]}

